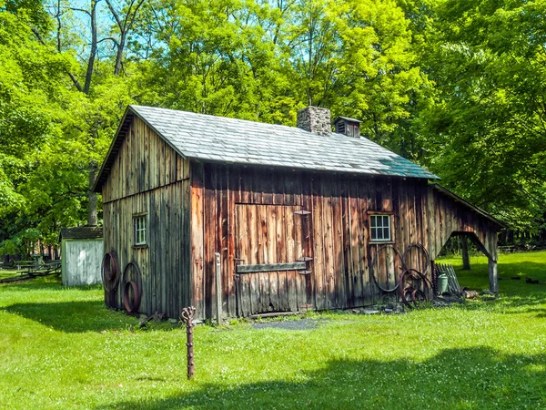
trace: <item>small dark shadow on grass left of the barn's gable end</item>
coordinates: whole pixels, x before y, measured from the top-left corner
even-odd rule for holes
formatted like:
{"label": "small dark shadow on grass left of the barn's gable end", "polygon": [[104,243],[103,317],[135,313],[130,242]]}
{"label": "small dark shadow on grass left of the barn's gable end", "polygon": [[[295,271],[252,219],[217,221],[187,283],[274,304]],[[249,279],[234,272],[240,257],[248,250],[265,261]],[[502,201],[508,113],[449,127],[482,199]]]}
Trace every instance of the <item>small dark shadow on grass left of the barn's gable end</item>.
{"label": "small dark shadow on grass left of the barn's gable end", "polygon": [[134,317],[106,309],[101,301],[15,303],[4,309],[66,333],[124,330]]}

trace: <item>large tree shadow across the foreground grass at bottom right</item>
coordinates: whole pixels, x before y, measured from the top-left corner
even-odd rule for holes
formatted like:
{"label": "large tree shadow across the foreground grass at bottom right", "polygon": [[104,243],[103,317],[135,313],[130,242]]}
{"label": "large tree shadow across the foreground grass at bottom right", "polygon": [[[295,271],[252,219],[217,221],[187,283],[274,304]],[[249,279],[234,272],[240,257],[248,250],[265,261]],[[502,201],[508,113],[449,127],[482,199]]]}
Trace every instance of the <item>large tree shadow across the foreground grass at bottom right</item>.
{"label": "large tree shadow across the foreground grass at bottom right", "polygon": [[542,408],[545,363],[544,354],[500,356],[490,348],[444,350],[419,363],[337,360],[301,381],[201,384],[97,408]]}

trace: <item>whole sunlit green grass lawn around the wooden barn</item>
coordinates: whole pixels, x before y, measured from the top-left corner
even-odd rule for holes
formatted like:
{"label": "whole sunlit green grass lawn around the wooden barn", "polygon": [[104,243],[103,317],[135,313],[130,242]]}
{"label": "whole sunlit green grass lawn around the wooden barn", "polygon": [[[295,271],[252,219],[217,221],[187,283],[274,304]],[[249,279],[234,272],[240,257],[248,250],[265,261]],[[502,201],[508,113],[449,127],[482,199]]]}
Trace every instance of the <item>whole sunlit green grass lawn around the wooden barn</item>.
{"label": "whole sunlit green grass lawn around the wooden barn", "polygon": [[[487,289],[487,261],[472,264],[461,285]],[[324,320],[303,331],[197,326],[191,382],[184,329],[134,331],[99,286],[0,285],[0,407],[545,408],[546,252],[501,255],[499,274],[496,301],[312,313]]]}

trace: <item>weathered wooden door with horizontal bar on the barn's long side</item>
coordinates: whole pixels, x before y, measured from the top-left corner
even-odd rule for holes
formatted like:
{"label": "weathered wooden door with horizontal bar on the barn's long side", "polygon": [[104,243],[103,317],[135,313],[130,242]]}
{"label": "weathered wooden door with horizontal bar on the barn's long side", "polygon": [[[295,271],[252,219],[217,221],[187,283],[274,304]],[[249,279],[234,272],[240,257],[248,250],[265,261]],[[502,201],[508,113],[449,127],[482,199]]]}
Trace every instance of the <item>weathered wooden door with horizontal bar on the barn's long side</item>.
{"label": "weathered wooden door with horizontal bar on the barn's long side", "polygon": [[[300,207],[237,204],[238,314],[297,312],[307,303]],[[310,237],[310,235],[308,236]]]}

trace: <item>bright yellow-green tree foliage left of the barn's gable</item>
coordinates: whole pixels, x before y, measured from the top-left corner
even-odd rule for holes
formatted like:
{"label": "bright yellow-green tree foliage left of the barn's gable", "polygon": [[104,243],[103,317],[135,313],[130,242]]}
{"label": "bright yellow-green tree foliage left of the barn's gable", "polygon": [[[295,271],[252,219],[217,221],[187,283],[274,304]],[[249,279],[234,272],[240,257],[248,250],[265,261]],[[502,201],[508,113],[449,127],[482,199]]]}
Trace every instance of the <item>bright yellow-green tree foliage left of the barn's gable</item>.
{"label": "bright yellow-green tree foliage left of the barn's gable", "polygon": [[131,93],[107,74],[79,92],[67,74],[75,58],[17,5],[0,9],[0,240],[36,228],[55,244],[60,227],[86,220],[89,163],[106,155]]}

